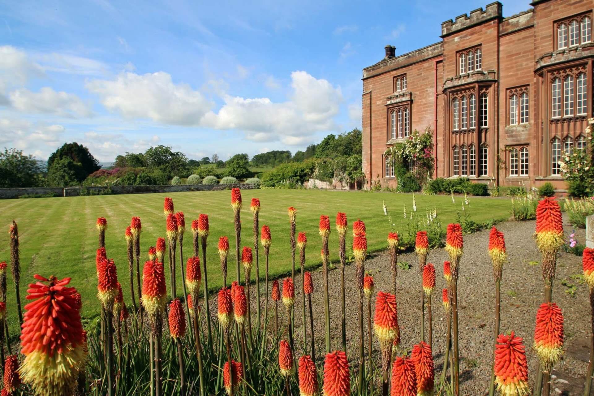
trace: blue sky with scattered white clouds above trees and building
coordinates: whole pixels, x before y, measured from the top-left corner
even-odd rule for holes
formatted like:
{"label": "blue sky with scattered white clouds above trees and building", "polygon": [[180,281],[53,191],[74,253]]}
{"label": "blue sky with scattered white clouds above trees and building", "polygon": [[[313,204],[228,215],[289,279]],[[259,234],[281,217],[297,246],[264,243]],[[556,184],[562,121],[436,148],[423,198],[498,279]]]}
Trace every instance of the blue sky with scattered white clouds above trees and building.
{"label": "blue sky with scattered white clouds above trees and building", "polygon": [[[361,128],[361,69],[485,0],[0,3],[0,147],[100,161],[302,150]],[[504,15],[529,9],[504,2]]]}

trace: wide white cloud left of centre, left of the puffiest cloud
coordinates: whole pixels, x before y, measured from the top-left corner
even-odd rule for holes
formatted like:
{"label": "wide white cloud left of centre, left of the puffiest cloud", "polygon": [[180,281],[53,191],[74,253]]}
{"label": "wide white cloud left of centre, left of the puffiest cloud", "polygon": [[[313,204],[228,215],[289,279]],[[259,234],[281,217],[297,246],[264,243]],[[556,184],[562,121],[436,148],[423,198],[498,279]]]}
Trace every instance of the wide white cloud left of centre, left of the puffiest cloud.
{"label": "wide white cloud left of centre, left of the puffiest cloud", "polygon": [[172,125],[198,125],[212,104],[188,84],[175,84],[166,72],[121,73],[115,80],[86,84],[103,106],[124,118],[149,118]]}

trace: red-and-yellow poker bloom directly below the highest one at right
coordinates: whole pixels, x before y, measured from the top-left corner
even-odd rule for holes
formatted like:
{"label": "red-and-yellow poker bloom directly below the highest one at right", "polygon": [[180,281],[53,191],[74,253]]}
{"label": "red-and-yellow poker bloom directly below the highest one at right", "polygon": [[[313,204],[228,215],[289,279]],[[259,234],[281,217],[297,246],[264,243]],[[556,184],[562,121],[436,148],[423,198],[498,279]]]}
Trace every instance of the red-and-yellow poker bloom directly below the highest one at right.
{"label": "red-and-yellow poker bloom directly below the highest one at right", "polygon": [[541,365],[551,370],[563,355],[563,313],[555,303],[542,303],[536,312],[534,349]]}

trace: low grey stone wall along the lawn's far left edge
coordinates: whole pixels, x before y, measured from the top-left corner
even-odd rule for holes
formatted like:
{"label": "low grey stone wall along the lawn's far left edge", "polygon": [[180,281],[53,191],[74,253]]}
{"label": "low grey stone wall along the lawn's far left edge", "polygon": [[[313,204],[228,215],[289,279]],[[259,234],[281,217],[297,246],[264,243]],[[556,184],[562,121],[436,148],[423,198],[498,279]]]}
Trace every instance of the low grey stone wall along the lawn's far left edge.
{"label": "low grey stone wall along the lawn's far left edge", "polygon": [[[141,185],[141,186],[89,186],[89,187],[23,187],[0,188],[0,199],[18,198],[23,195],[56,194],[60,197],[76,197],[81,195],[84,188],[90,191],[89,195],[99,195],[100,192],[110,189],[108,194],[151,194],[154,192],[184,192],[184,191],[222,191],[231,188],[257,189],[259,186],[251,184],[195,184],[195,185]],[[93,194],[94,193],[94,194]]]}

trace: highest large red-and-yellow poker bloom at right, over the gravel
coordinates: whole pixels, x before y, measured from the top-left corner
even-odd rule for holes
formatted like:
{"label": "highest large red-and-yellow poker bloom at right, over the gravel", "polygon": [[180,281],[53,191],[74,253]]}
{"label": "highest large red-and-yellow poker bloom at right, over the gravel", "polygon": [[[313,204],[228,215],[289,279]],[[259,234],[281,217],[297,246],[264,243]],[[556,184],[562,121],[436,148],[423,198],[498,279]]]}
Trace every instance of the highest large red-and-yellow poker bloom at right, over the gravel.
{"label": "highest large red-and-yellow poker bloom at right, over the gravel", "polygon": [[563,246],[563,218],[555,198],[544,198],[536,207],[536,245],[543,254],[556,253]]}

